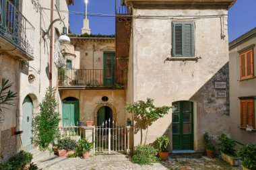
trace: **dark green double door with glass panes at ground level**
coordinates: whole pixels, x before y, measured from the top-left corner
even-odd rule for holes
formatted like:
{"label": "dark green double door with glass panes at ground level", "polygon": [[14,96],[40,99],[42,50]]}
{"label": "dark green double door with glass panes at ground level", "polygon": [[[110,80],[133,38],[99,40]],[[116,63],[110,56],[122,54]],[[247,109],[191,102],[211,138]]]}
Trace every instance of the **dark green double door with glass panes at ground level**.
{"label": "dark green double door with glass panes at ground level", "polygon": [[172,150],[193,150],[193,102],[172,105]]}

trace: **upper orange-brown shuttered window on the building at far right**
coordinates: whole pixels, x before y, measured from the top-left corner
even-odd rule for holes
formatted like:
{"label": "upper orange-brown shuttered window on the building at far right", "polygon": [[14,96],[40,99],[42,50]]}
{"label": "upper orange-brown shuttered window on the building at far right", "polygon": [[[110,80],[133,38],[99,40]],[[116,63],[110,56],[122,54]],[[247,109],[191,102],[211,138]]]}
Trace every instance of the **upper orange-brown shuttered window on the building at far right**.
{"label": "upper orange-brown shuttered window on the building at far right", "polygon": [[240,77],[249,79],[254,76],[253,48],[240,54]]}

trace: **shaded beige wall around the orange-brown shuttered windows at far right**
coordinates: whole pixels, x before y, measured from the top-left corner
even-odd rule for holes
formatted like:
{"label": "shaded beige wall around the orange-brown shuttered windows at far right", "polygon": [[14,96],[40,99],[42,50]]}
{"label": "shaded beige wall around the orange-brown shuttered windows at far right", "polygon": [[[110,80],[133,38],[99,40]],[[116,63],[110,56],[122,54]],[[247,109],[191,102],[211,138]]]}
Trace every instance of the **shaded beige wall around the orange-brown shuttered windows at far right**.
{"label": "shaded beige wall around the orange-brown shuttered windows at far right", "polygon": [[[256,96],[256,79],[249,79],[239,81],[240,78],[240,55],[239,50],[247,48],[252,44],[256,44],[256,37],[249,38],[248,40],[237,44],[230,48],[230,132],[231,138],[242,144],[249,144],[256,142],[255,132],[247,132],[245,129],[239,128],[241,126],[241,104],[238,97]],[[254,50],[254,71],[256,70],[256,48]],[[255,105],[256,113],[256,105]],[[256,122],[256,116],[255,116]]]}

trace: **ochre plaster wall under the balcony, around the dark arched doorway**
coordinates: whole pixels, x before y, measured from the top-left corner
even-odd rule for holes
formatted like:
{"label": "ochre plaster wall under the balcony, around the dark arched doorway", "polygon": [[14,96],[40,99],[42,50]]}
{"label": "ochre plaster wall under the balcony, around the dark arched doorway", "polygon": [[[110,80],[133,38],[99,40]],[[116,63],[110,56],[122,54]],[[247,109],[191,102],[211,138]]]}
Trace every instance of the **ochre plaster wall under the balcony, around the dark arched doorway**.
{"label": "ochre plaster wall under the balcony, around the dark arched doorway", "polygon": [[[79,99],[79,116],[86,117],[86,120],[94,120],[98,109],[101,106],[113,108],[113,116],[116,115],[117,126],[125,126],[125,91],[123,89],[102,89],[102,90],[62,90],[61,99],[75,97]],[[108,101],[102,101],[102,97],[108,97]],[[84,121],[86,121],[84,120]]]}

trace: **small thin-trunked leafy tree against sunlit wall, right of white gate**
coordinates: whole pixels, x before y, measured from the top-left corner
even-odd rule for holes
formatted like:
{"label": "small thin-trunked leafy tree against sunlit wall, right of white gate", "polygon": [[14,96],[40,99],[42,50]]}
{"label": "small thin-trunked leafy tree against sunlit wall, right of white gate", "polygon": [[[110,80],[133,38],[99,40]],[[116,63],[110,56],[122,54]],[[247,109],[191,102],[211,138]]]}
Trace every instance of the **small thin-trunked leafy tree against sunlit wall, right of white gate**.
{"label": "small thin-trunked leafy tree against sunlit wall, right of white gate", "polygon": [[[159,118],[164,117],[164,115],[168,114],[168,111],[172,108],[172,106],[162,106],[156,107],[154,105],[154,99],[148,98],[147,101],[137,101],[133,104],[128,103],[125,105],[125,110],[131,114],[135,114],[135,128],[139,127],[139,129],[146,129],[146,138],[145,144],[148,138],[148,126],[155,122]],[[135,129],[135,132],[137,130]],[[142,136],[141,142],[142,143]]]}

